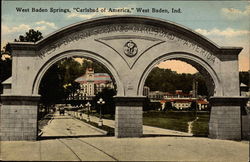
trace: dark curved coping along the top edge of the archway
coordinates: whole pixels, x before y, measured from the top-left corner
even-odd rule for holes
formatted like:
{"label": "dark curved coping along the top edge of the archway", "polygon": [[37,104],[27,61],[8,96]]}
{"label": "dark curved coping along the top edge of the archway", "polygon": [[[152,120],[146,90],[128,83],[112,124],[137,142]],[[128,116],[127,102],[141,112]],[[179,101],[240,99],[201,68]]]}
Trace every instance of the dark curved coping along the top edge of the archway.
{"label": "dark curved coping along the top edge of the archway", "polygon": [[204,37],[203,35],[197,33],[196,31],[193,31],[192,29],[189,29],[187,27],[184,27],[182,25],[179,25],[177,23],[163,20],[160,18],[153,18],[153,17],[147,17],[147,16],[132,16],[132,15],[126,15],[126,16],[104,16],[104,17],[98,17],[93,19],[84,20],[78,23],[74,23],[71,25],[68,25],[66,27],[63,27],[59,30],[56,30],[55,32],[49,34],[42,40],[38,42],[12,42],[10,43],[10,46],[12,49],[15,50],[34,50],[38,51],[43,46],[48,44],[49,42],[53,42],[54,40],[60,39],[63,36],[76,33],[82,29],[88,29],[91,27],[96,26],[102,26],[106,24],[125,24],[125,23],[136,23],[136,24],[145,24],[145,25],[151,25],[156,26],[160,28],[166,28],[173,32],[179,33],[181,35],[187,35],[187,37],[193,38],[193,40],[196,40],[200,42],[201,44],[204,44],[205,46],[208,46],[218,54],[230,54],[230,55],[238,55],[242,47],[233,47],[233,46],[218,46],[208,38]]}

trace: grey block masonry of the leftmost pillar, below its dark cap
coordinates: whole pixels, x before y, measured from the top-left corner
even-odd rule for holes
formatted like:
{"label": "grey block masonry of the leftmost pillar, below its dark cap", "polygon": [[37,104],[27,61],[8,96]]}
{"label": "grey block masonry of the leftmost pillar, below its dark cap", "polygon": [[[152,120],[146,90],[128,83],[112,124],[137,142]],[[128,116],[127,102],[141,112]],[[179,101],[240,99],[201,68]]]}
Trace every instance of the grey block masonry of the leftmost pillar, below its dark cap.
{"label": "grey block masonry of the leftmost pillar, below its dark cap", "polygon": [[1,105],[1,141],[36,140],[36,105]]}

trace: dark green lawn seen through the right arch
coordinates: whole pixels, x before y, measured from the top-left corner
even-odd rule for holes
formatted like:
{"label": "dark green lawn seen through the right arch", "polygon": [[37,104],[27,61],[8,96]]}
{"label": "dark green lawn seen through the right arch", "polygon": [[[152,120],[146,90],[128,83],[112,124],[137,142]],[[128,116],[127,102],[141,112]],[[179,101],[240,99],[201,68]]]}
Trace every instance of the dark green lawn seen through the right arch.
{"label": "dark green lawn seen through the right arch", "polygon": [[197,114],[195,112],[144,112],[143,124],[188,132],[188,122],[193,121],[196,115],[199,119],[193,123],[192,133],[195,136],[207,136],[209,121],[208,112],[197,112]]}

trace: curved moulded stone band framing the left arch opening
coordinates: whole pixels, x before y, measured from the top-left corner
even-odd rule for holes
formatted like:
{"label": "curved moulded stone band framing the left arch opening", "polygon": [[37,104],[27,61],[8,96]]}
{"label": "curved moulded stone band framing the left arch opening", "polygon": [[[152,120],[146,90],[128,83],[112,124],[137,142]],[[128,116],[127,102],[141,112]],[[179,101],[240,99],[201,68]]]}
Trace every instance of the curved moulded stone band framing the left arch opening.
{"label": "curved moulded stone band framing the left arch opening", "polygon": [[115,81],[115,87],[117,88],[117,95],[124,96],[124,88],[123,83],[121,82],[120,76],[118,75],[117,71],[113,67],[112,63],[102,57],[101,55],[98,55],[97,53],[87,51],[87,50],[69,50],[64,51],[62,53],[58,53],[54,55],[52,58],[46,61],[46,63],[43,64],[43,66],[38,70],[36,77],[33,81],[32,85],[32,94],[38,94],[39,86],[41,83],[41,80],[44,76],[44,74],[48,71],[48,69],[55,64],[57,61],[60,61],[67,57],[84,57],[89,58],[97,61],[101,65],[103,65],[107,71],[110,73],[110,76],[113,81]]}

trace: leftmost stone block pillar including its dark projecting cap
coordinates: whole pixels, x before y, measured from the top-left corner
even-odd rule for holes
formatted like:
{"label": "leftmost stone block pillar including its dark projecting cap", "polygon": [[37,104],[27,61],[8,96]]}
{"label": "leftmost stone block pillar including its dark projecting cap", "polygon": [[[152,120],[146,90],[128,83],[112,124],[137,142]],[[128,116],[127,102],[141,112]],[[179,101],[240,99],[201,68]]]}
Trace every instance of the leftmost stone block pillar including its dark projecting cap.
{"label": "leftmost stone block pillar including its dark projecting cap", "polygon": [[2,95],[1,140],[37,139],[37,103],[40,96]]}

